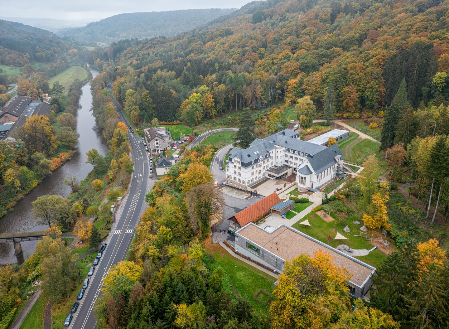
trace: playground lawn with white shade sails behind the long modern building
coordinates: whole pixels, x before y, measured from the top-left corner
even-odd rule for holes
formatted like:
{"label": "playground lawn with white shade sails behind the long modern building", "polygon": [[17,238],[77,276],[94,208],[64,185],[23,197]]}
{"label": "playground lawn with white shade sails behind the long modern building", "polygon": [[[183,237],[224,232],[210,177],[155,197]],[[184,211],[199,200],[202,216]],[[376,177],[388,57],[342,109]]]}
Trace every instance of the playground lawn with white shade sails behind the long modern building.
{"label": "playground lawn with white shade sails behind the long modern building", "polygon": [[[323,206],[324,207],[324,206]],[[335,215],[333,213],[330,213],[330,215],[335,218]],[[305,219],[308,219],[308,222],[311,226],[302,225],[299,224],[299,222],[304,221]],[[345,244],[353,249],[368,249],[370,250],[373,248],[373,245],[370,243],[370,241],[366,241],[364,237],[354,237],[353,233],[360,232],[361,225],[356,225],[352,223],[353,218],[348,217],[344,220],[334,220],[330,223],[325,222],[320,216],[318,216],[315,212],[310,212],[308,215],[305,215],[302,219],[299,219],[298,222],[292,225],[292,227],[296,228],[298,231],[301,231],[311,237],[314,237],[317,240],[320,240],[321,242],[326,243],[327,245],[330,245],[334,248],[341,244]],[[343,231],[343,228],[348,225],[351,232],[346,233]],[[337,232],[342,234],[344,237],[347,237],[348,240],[334,240],[332,239],[330,242],[327,241],[327,237],[330,235],[332,238],[335,237],[336,232],[332,231],[332,228],[337,228]],[[374,250],[370,252],[370,254],[363,256],[363,257],[357,257],[361,261],[368,263],[374,267],[379,266],[380,262],[387,258],[387,255],[384,254],[380,250]]]}

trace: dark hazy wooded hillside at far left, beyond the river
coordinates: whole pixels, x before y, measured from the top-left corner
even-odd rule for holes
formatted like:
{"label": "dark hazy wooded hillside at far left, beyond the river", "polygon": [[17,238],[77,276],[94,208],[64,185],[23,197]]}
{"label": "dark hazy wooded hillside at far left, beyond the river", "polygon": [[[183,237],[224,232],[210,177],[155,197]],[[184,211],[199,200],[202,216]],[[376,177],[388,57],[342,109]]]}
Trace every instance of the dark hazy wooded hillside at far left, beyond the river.
{"label": "dark hazy wooded hillside at far left, beyond the river", "polygon": [[29,62],[51,62],[72,48],[51,32],[0,20],[0,64],[23,66]]}

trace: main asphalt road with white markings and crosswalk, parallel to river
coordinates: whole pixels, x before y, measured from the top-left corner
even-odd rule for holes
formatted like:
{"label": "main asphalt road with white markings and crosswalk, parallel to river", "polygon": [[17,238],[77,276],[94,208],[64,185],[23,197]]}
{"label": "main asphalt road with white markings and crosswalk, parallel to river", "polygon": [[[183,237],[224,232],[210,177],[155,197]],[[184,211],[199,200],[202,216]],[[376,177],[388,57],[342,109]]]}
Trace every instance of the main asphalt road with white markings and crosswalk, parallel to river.
{"label": "main asphalt road with white markings and crosswalk, parallel to river", "polygon": [[[114,105],[120,114],[120,120],[126,123],[128,127],[129,124],[115,101]],[[70,326],[67,327],[70,329],[93,329],[95,327],[96,319],[93,306],[101,294],[103,280],[112,265],[125,259],[134,237],[136,224],[138,224],[140,215],[146,208],[145,193],[154,184],[154,180],[148,178],[148,156],[143,143],[138,144],[137,142],[140,139],[130,130],[128,130],[128,136],[131,144],[131,155],[134,160],[134,172],[132,173],[128,194],[116,210],[116,221],[106,240],[108,246],[101,257],[100,263],[96,266],[94,275],[90,277],[89,286],[83,299],[79,301],[79,308],[73,314]],[[81,286],[79,289],[81,289]],[[69,312],[70,309],[67,310],[67,314]]]}

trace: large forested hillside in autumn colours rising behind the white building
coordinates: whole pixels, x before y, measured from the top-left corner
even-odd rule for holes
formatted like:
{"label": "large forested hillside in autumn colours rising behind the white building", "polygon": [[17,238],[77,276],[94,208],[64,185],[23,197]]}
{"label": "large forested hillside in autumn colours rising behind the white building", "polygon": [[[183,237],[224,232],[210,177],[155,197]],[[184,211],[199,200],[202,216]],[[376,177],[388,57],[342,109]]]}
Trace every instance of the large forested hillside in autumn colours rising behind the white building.
{"label": "large forested hillside in autumn colours rising behind the white building", "polygon": [[[448,9],[435,0],[252,2],[194,32],[113,44],[91,61],[114,71],[119,101],[136,91],[137,121],[174,120],[194,103],[201,120],[304,95],[320,113],[330,84],[337,116],[370,116],[391,103],[403,78],[411,105],[447,101]],[[141,101],[145,91],[154,110]]]}

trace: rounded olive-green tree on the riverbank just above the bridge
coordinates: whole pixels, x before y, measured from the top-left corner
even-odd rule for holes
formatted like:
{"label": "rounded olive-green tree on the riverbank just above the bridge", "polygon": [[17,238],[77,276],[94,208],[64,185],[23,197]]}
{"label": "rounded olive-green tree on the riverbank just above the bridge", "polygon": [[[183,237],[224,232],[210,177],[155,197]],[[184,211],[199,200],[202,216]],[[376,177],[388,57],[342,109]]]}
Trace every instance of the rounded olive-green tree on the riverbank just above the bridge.
{"label": "rounded olive-green tree on the riverbank just above the bridge", "polygon": [[53,220],[60,221],[67,216],[69,211],[67,200],[60,195],[44,195],[38,197],[31,204],[33,205],[33,217],[39,218],[37,224],[40,225],[50,226]]}

